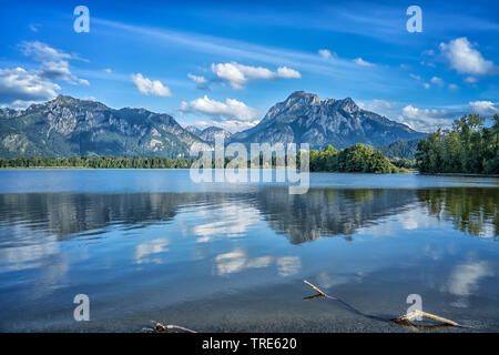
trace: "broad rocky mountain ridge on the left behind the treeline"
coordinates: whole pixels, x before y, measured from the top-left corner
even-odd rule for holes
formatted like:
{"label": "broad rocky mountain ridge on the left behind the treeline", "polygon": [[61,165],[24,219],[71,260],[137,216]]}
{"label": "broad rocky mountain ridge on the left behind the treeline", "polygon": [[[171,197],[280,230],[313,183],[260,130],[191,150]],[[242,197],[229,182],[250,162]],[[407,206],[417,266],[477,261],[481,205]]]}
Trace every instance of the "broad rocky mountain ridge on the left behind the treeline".
{"label": "broad rocky mountain ridge on the left behind the treeline", "polygon": [[169,114],[145,109],[113,110],[59,95],[22,111],[0,111],[0,156],[184,156],[211,144]]}

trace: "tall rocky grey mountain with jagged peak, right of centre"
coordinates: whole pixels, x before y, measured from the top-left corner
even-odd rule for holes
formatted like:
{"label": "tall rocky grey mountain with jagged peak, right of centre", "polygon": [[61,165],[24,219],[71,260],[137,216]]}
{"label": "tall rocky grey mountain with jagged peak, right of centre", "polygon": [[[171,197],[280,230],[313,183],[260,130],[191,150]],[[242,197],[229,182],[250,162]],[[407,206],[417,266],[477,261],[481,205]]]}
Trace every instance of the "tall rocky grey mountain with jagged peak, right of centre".
{"label": "tall rocky grey mountain with jagged peak, right of centre", "polygon": [[356,143],[387,145],[425,135],[406,124],[361,110],[350,98],[320,100],[316,94],[296,91],[272,106],[257,125],[233,134],[231,141],[309,143],[310,149],[332,144],[342,149]]}

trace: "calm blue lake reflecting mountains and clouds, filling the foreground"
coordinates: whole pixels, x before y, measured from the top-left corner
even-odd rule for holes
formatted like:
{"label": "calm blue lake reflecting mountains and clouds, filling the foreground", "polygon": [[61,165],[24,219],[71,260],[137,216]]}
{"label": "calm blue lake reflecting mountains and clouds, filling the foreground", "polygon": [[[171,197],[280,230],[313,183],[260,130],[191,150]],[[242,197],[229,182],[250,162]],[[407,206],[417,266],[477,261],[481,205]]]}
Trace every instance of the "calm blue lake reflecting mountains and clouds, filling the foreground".
{"label": "calm blue lake reflecting mountains and clouds, filling the foreground", "polygon": [[[406,332],[384,320],[419,294],[469,327],[450,331],[499,332],[498,209],[491,178],[320,173],[289,195],[186,170],[0,171],[0,331]],[[359,313],[304,301],[303,280]]]}

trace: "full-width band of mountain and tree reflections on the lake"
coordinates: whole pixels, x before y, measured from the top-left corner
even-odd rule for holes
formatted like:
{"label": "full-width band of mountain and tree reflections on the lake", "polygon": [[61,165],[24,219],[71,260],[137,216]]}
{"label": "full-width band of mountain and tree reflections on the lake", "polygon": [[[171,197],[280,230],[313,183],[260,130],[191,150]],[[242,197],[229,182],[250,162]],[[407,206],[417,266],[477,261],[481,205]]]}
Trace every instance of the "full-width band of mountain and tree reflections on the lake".
{"label": "full-width band of mountain and tree reflections on the lake", "polygon": [[[305,195],[289,195],[286,187],[240,194],[11,193],[0,194],[0,227],[22,225],[57,235],[60,241],[74,236],[99,237],[110,225],[136,229],[164,223],[184,209],[196,215],[198,223],[192,226],[191,233],[200,243],[220,235],[242,236],[264,219],[292,244],[299,244],[320,236],[350,236],[384,217],[416,209],[418,201],[427,206],[430,215],[451,221],[462,232],[477,236],[499,233],[499,190],[471,187],[310,189]],[[417,221],[404,223],[410,229]],[[7,240],[0,235],[0,242]],[[44,243],[39,247],[53,247],[50,245]],[[29,252],[32,253],[43,251]]]}

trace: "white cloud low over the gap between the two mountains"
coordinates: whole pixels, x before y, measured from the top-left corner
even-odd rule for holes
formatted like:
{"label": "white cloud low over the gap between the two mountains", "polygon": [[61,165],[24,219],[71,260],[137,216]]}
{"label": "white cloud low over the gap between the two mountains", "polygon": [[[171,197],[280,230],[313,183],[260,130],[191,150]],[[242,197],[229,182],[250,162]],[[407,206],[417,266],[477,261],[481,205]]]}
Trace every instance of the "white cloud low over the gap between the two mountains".
{"label": "white cloud low over the gap between the two mountains", "polygon": [[181,103],[181,111],[193,111],[197,113],[208,114],[220,119],[235,119],[237,121],[252,121],[258,112],[247,106],[244,102],[235,99],[225,99],[225,102],[220,102],[210,99],[207,95]]}

